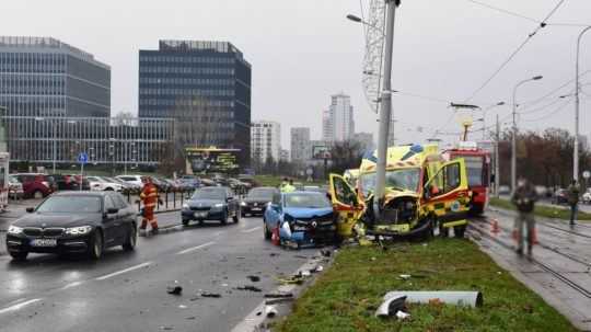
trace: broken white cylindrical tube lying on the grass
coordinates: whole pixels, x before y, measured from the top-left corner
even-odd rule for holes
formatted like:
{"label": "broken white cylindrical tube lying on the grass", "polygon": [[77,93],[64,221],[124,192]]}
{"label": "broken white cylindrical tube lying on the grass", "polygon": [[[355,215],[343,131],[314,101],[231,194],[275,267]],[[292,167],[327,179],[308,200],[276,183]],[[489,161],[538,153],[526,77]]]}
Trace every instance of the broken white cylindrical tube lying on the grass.
{"label": "broken white cylindrical tube lying on the grass", "polygon": [[438,299],[447,305],[482,307],[483,294],[480,291],[390,291],[384,296],[384,300],[406,296],[408,302],[429,304]]}

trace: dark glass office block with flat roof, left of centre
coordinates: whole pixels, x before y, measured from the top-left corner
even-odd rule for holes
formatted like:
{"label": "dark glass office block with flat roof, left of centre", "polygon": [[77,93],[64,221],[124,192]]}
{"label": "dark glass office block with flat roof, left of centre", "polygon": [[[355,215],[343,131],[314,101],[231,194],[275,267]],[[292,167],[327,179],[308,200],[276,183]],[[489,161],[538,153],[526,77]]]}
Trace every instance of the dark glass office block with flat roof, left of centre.
{"label": "dark glass office block with flat roof, left of centre", "polygon": [[251,158],[251,65],[227,42],[160,41],[139,51],[139,116],[178,119],[183,145]]}

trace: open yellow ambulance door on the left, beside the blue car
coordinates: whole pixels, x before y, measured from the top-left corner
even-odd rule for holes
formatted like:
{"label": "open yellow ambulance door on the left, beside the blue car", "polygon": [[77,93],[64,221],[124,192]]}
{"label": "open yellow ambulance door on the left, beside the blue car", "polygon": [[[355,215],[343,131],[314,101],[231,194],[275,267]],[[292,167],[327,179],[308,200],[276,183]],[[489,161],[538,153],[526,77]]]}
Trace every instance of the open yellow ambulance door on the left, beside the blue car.
{"label": "open yellow ambulance door on the left, beside the blue car", "polygon": [[366,209],[364,204],[347,180],[338,174],[331,174],[329,194],[337,217],[338,234],[344,238],[351,237],[355,225]]}

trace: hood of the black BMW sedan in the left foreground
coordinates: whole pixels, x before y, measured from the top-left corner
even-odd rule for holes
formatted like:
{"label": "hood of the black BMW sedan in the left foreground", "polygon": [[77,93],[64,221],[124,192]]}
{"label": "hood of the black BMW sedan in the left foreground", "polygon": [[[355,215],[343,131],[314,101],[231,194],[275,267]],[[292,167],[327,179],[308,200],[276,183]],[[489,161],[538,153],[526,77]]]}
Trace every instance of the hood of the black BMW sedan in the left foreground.
{"label": "hood of the black BMW sedan in the left foreground", "polygon": [[102,219],[101,214],[27,214],[12,225],[19,227],[77,227],[95,225]]}

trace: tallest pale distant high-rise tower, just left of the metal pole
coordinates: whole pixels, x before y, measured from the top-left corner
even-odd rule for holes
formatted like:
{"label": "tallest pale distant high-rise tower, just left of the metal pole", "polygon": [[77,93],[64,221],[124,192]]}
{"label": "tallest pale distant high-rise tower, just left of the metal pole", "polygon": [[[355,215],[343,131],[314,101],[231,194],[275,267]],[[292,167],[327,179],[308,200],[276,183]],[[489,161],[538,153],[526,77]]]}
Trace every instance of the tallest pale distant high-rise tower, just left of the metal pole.
{"label": "tallest pale distant high-rise tower, just left of the metal pole", "polygon": [[352,138],[355,133],[351,98],[344,94],[332,96],[328,111],[323,113],[323,140],[343,141]]}

